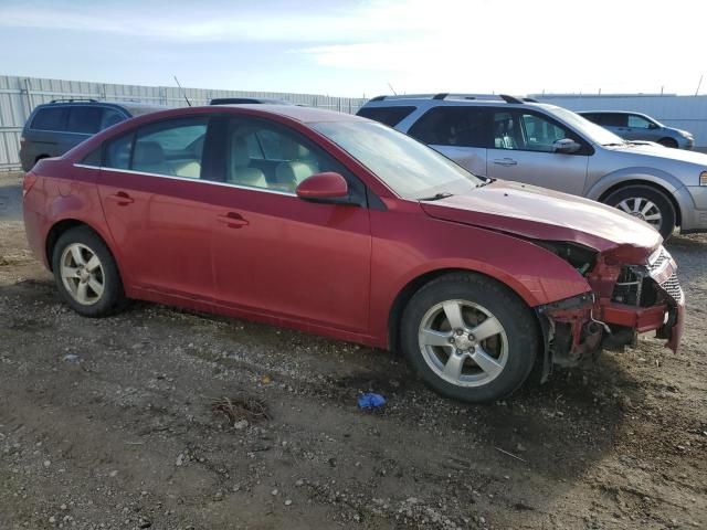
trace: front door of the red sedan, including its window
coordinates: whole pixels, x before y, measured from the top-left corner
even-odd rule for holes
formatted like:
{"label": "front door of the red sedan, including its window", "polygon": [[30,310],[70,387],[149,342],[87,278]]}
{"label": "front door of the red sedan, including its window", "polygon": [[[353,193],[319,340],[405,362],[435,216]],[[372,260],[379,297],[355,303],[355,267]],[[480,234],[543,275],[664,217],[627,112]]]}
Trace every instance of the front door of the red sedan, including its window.
{"label": "front door of the red sedan, including its window", "polygon": [[[220,300],[251,311],[366,332],[371,235],[363,184],[298,132],[228,118],[213,194]],[[295,188],[336,171],[360,205],[307,202]]]}

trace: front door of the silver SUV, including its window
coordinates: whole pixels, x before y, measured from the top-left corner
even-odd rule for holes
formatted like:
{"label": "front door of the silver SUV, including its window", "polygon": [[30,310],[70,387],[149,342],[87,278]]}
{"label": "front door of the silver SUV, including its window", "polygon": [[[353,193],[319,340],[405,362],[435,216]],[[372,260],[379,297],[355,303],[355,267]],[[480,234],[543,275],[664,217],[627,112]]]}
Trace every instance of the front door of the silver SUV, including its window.
{"label": "front door of the silver SUV, including its window", "polygon": [[[584,139],[551,117],[532,109],[495,108],[488,176],[582,195],[589,156]],[[557,140],[581,145],[574,153],[555,152]]]}

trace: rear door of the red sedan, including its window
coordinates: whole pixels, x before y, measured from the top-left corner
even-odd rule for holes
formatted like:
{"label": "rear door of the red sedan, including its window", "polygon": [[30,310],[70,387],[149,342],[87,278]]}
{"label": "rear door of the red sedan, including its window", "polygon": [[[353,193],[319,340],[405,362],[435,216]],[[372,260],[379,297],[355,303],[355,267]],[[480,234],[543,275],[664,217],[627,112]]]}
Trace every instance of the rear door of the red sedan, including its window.
{"label": "rear door of the red sedan, including its window", "polygon": [[131,285],[184,298],[213,296],[202,181],[209,118],[173,118],[108,141],[97,182],[122,273]]}

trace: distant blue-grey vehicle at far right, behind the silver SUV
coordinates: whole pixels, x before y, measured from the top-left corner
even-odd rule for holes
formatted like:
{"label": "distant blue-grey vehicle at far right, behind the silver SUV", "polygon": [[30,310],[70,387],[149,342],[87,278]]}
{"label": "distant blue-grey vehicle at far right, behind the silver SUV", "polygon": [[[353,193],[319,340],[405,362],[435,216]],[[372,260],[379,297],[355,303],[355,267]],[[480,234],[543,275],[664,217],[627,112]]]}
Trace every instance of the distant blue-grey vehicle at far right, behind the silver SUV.
{"label": "distant blue-grey vehicle at far right, behind the silver SUV", "polygon": [[655,141],[680,149],[692,149],[695,146],[695,138],[687,130],[674,129],[645,114],[620,110],[580,110],[577,114],[625,140]]}

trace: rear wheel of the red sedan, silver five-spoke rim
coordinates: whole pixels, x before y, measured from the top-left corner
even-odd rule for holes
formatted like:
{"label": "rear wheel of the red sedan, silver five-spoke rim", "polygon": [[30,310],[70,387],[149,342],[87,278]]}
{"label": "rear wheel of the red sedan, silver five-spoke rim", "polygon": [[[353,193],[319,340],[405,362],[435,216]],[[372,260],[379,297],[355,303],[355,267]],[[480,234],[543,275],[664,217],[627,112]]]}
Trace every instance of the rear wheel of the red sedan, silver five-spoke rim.
{"label": "rear wheel of the red sedan, silver five-spoke rim", "polygon": [[125,303],[110,251],[87,226],[64,232],[54,245],[52,268],[64,301],[85,317],[105,317]]}

